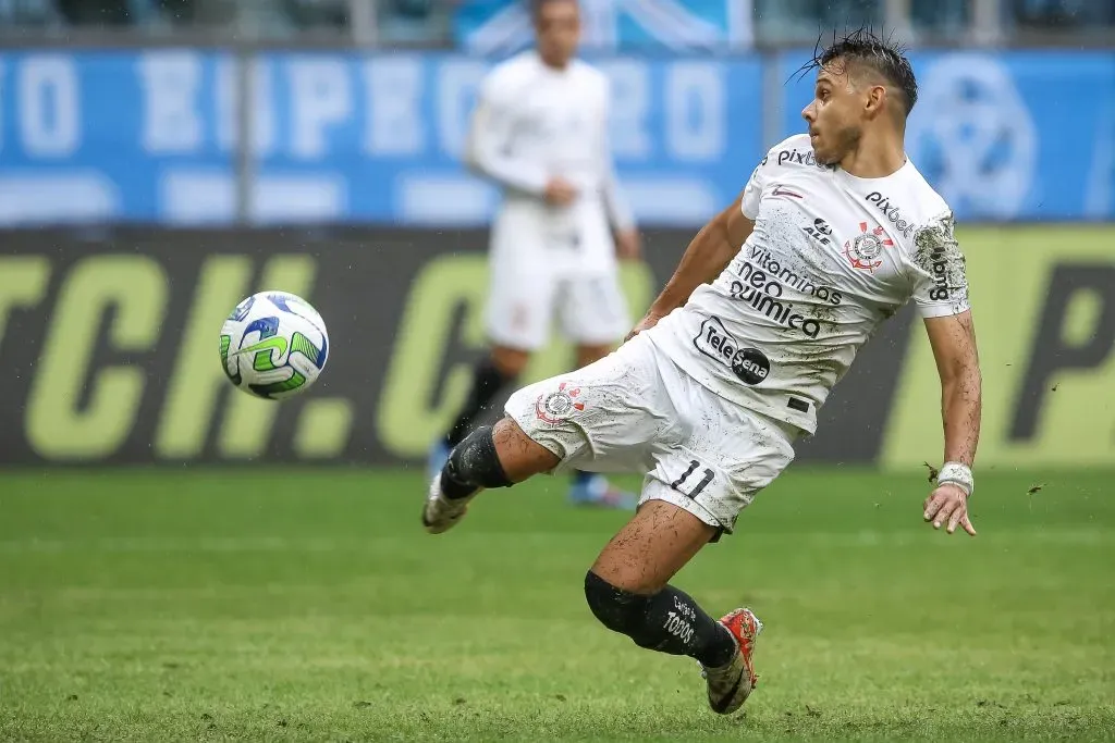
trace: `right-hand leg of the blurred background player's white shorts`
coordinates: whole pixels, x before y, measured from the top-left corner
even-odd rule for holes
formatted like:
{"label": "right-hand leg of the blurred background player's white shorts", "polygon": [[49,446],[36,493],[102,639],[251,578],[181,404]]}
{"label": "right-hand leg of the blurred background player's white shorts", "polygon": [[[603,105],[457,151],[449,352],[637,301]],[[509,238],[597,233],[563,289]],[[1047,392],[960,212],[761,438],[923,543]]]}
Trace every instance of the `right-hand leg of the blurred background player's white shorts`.
{"label": "right-hand leg of the blurred background player's white shorts", "polygon": [[558,295],[562,331],[574,343],[608,345],[631,330],[618,273],[568,277]]}

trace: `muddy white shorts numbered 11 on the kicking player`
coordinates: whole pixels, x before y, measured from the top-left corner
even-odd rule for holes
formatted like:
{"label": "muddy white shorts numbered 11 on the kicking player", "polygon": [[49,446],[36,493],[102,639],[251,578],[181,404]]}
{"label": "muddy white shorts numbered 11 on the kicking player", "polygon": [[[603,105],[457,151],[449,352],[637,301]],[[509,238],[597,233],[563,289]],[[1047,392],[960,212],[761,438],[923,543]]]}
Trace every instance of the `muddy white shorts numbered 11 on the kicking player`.
{"label": "muddy white shorts numbered 11 on the kicking player", "polygon": [[561,458],[552,473],[644,472],[640,504],[668,501],[727,534],[794,460],[798,436],[702,387],[646,335],[518,390],[504,410]]}

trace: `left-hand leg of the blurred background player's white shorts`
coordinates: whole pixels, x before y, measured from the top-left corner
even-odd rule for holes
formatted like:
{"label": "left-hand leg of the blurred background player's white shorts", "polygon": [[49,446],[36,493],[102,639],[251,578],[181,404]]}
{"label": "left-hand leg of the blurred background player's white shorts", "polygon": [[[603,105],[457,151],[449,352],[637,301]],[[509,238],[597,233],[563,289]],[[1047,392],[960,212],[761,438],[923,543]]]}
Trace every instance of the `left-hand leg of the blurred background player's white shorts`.
{"label": "left-hand leg of the blurred background player's white shorts", "polygon": [[521,351],[543,348],[550,340],[558,289],[554,278],[531,271],[521,258],[493,256],[485,312],[488,341]]}

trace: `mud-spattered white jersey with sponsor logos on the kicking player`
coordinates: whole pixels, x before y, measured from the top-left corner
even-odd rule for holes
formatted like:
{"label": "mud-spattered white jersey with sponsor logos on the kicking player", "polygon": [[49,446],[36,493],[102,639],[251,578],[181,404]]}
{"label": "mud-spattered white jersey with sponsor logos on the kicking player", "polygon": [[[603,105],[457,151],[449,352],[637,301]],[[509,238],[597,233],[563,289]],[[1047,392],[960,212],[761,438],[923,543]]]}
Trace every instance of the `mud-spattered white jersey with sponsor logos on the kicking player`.
{"label": "mud-spattered white jersey with sponsor logos on the kicking player", "polygon": [[884,178],[818,165],[807,135],[772,148],[743,212],[755,229],[728,267],[648,331],[717,394],[816,430],[860,346],[911,299],[923,317],[968,310],[952,214],[908,159]]}

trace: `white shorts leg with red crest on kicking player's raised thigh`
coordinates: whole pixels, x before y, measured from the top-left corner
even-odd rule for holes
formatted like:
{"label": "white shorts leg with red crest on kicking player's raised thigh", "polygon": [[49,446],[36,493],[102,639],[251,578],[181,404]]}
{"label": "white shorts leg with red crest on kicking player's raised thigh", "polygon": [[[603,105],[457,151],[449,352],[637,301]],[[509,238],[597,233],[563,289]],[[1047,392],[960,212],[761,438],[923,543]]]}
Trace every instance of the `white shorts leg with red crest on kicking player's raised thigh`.
{"label": "white shorts leg with red crest on kicking player's raised thigh", "polygon": [[669,428],[657,356],[636,338],[588,366],[516,391],[505,411],[561,460],[554,473],[646,472]]}

